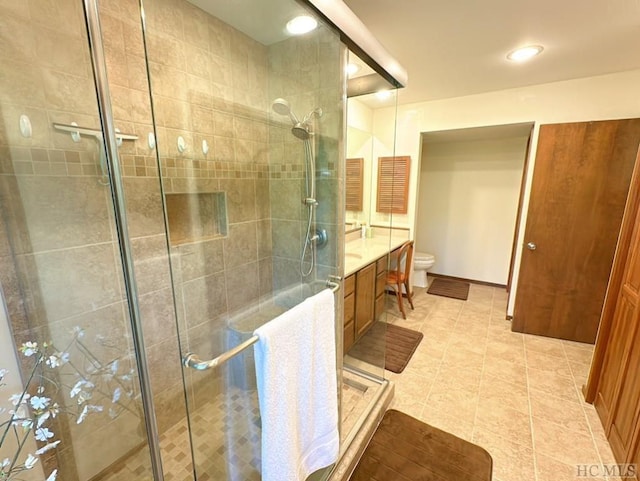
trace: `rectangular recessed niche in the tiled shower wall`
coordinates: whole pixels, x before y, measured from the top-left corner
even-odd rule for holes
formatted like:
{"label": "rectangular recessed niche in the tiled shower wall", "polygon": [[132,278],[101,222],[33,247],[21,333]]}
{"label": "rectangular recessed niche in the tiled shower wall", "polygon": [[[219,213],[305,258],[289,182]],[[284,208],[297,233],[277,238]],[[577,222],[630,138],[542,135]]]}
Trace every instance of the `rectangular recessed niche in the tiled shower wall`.
{"label": "rectangular recessed niche in the tiled shower wall", "polygon": [[227,235],[225,192],[165,194],[165,202],[172,246]]}

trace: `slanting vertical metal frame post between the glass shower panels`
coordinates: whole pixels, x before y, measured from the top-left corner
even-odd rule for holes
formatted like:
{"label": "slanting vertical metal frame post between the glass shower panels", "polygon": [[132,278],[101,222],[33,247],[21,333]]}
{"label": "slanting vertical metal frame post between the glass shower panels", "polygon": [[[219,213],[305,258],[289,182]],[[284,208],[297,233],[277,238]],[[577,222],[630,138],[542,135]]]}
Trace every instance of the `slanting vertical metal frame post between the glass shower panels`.
{"label": "slanting vertical metal frame post between the glass shower panels", "polygon": [[96,93],[98,96],[100,122],[102,123],[102,131],[104,133],[104,144],[107,154],[107,172],[109,175],[109,183],[111,184],[114,217],[118,233],[118,242],[120,245],[120,257],[122,258],[124,283],[127,291],[129,318],[131,319],[131,332],[133,336],[136,361],[138,364],[138,377],[140,379],[140,393],[144,409],[144,421],[147,431],[147,441],[149,443],[149,453],[151,456],[151,468],[153,470],[153,479],[155,481],[164,481],[162,458],[160,456],[160,445],[158,441],[158,426],[153,406],[147,356],[142,337],[140,309],[138,308],[138,288],[133,269],[131,245],[129,243],[127,213],[124,202],[124,188],[122,185],[120,164],[117,161],[118,145],[116,140],[116,131],[113,125],[113,112],[111,110],[107,65],[104,56],[104,45],[102,43],[98,0],[84,0],[84,13],[87,22],[87,31],[89,34],[91,63],[93,65],[93,76],[95,78]]}

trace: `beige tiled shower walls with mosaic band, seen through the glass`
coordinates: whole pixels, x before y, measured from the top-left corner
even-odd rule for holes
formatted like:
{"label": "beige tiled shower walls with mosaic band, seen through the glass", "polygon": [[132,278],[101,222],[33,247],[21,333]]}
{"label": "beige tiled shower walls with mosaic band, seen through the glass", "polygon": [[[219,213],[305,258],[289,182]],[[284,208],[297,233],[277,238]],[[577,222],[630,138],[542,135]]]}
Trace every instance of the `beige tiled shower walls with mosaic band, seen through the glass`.
{"label": "beige tiled shower walls with mosaic band, seen through the glass", "polygon": [[[339,89],[325,88],[320,75],[339,78],[340,52],[327,31],[266,47],[185,1],[147,2],[164,191],[227,196],[227,238],[170,249],[174,309],[156,153],[147,144],[152,109],[138,2],[100,5],[115,124],[139,137],[123,143],[120,161],[163,432],[185,415],[176,311],[181,342],[211,357],[226,349],[226,318],[273,289],[301,282],[302,142],[270,113],[276,97],[287,98],[299,116],[315,107],[325,111],[318,124],[322,137],[315,142],[322,172],[318,219],[337,235],[341,99]],[[51,126],[100,125],[81,6],[31,0],[3,2],[0,11],[6,28],[0,35],[0,282],[16,342],[64,343],[70,330],[81,326],[87,338],[100,336],[95,353],[126,361],[132,352],[129,320],[98,145],[87,138],[75,143]],[[21,114],[33,123],[32,138],[19,133]],[[183,154],[176,148],[179,135],[187,144]],[[210,146],[207,155],[203,140]],[[320,259],[333,272],[335,249],[321,251]],[[111,345],[119,346],[117,354],[105,347]],[[196,405],[219,389],[200,373],[192,374],[188,385]],[[137,420],[102,417],[80,428],[61,424],[68,440],[55,456],[64,459],[57,464],[65,480],[87,479],[144,442]],[[118,442],[104,443],[115,433]],[[93,448],[98,445],[100,450]]]}

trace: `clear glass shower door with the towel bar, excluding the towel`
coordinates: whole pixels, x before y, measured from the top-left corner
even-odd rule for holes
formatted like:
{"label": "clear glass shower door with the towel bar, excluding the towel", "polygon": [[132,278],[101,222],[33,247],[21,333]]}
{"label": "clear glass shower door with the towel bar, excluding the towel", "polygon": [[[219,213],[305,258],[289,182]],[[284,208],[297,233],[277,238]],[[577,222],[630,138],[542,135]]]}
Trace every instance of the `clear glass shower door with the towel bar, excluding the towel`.
{"label": "clear glass shower door with the towel bar, excluding the towel", "polygon": [[[293,0],[144,11],[180,347],[209,360],[339,272],[342,47],[284,33]],[[198,479],[260,479],[253,349],[184,376]]]}

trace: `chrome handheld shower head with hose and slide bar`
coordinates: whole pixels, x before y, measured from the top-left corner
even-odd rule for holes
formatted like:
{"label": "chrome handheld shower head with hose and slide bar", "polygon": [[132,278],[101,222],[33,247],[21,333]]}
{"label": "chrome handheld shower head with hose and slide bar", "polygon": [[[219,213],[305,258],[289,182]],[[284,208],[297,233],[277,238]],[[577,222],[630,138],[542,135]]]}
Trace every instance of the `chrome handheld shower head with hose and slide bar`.
{"label": "chrome handheld shower head with hose and slide bar", "polygon": [[[273,111],[282,116],[288,116],[291,120],[291,133],[304,143],[304,165],[305,165],[305,196],[302,203],[307,207],[307,229],[303,240],[302,253],[300,254],[300,274],[303,277],[309,276],[313,272],[316,258],[316,248],[327,243],[327,231],[325,229],[315,230],[315,210],[318,207],[316,200],[316,158],[314,147],[313,120],[322,117],[322,109],[316,107],[305,115],[300,121],[289,102],[283,98],[277,98],[271,104]],[[312,231],[315,232],[312,235]],[[307,267],[305,259],[309,257]]]}

